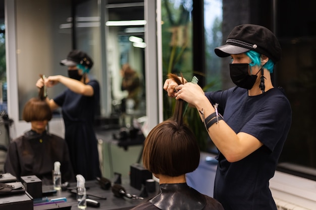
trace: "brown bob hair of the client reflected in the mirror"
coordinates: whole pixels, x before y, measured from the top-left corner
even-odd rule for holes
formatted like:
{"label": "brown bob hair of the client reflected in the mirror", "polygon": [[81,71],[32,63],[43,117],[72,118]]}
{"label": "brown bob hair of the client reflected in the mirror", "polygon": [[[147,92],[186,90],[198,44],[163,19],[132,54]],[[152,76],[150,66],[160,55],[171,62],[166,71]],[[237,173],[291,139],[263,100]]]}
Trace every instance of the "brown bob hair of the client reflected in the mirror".
{"label": "brown bob hair of the client reflected in the mirror", "polygon": [[49,105],[45,100],[31,98],[26,102],[23,109],[23,120],[26,122],[36,120],[50,120],[52,113]]}

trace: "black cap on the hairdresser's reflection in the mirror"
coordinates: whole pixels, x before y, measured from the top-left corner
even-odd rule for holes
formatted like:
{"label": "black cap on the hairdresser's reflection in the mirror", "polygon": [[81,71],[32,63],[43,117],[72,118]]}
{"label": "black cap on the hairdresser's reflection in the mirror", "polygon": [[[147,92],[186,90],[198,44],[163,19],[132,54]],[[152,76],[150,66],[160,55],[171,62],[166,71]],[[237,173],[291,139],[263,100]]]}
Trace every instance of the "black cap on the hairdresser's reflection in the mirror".
{"label": "black cap on the hairdresser's reflection in the mirror", "polygon": [[61,60],[61,65],[75,66],[77,64],[82,64],[88,68],[91,68],[93,61],[87,55],[87,53],[76,49],[70,51],[66,59]]}

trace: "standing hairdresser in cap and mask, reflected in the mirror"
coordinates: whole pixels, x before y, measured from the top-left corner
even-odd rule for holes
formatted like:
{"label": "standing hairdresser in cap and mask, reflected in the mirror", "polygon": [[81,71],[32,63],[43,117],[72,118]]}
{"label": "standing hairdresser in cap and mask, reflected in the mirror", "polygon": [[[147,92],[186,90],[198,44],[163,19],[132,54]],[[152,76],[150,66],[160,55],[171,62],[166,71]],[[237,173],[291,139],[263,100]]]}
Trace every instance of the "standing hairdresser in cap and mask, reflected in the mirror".
{"label": "standing hairdresser in cap and mask, reflected in the mirror", "polygon": [[99,103],[99,83],[90,80],[88,73],[92,59],[83,51],[72,50],[61,61],[68,67],[69,77],[61,75],[39,79],[38,88],[50,88],[59,83],[67,89],[54,99],[48,100],[51,110],[62,108],[65,122],[65,140],[69,147],[70,159],[75,174],[86,180],[101,176],[99,168],[97,139],[93,129],[95,107]]}

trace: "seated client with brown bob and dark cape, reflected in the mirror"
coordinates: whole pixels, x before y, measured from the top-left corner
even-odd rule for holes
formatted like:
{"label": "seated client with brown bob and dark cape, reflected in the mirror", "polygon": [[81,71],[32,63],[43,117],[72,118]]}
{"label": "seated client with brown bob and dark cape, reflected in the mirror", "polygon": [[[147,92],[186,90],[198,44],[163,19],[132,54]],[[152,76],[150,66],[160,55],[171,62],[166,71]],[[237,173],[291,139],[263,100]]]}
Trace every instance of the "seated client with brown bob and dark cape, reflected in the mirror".
{"label": "seated client with brown bob and dark cape, reflected in the mirror", "polygon": [[75,181],[65,140],[48,133],[46,125],[52,113],[45,100],[31,98],[23,109],[23,119],[31,122],[31,130],[14,139],[8,149],[4,166],[18,180],[35,175],[43,185],[52,184],[54,162],[61,163],[62,182]]}

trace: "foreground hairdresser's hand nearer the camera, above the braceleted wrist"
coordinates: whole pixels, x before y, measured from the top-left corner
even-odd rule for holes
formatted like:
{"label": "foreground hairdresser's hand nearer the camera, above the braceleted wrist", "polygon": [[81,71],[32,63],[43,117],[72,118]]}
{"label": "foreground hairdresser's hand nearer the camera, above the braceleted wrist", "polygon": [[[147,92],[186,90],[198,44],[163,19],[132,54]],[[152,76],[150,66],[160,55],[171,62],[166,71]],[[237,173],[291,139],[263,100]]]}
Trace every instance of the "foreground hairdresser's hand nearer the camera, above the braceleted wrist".
{"label": "foreground hairdresser's hand nearer the camera, above the braceleted wrist", "polygon": [[205,94],[202,88],[193,83],[186,83],[175,88],[176,99],[182,99],[187,103],[196,106],[200,101],[205,100]]}

